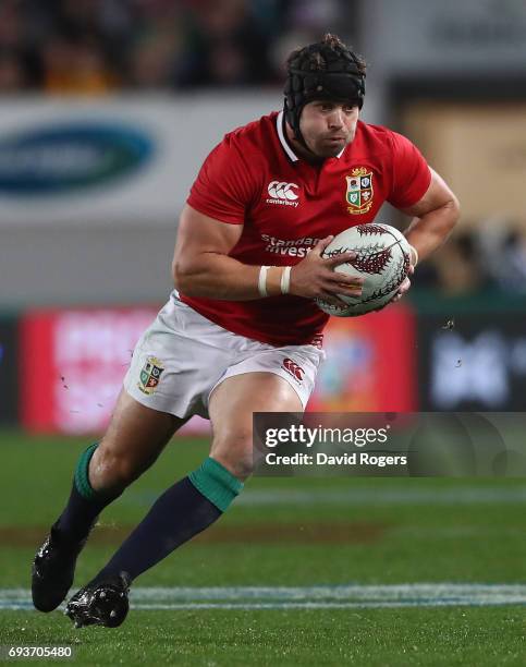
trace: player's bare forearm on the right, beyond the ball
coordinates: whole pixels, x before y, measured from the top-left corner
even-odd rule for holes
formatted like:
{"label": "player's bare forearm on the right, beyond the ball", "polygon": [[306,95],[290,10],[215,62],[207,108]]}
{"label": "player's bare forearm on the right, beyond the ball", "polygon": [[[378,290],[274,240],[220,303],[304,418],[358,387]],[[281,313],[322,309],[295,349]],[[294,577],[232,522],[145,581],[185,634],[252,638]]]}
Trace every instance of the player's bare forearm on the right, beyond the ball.
{"label": "player's bare forearm on the right, beyond the ball", "polygon": [[405,231],[418,253],[418,262],[428,257],[448,239],[460,216],[458,202],[452,199],[419,218],[413,218]]}

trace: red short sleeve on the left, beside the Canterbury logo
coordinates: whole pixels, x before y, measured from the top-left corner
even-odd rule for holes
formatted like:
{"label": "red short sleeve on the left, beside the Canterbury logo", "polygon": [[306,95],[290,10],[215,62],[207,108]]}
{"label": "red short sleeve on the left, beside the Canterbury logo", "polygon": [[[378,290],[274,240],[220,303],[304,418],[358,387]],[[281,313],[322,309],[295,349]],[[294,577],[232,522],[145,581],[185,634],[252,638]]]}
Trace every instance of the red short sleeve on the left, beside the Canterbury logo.
{"label": "red short sleeve on the left, beside the Canterbury logo", "polygon": [[210,218],[243,225],[253,196],[254,183],[245,160],[227,135],[203,163],[187,203]]}

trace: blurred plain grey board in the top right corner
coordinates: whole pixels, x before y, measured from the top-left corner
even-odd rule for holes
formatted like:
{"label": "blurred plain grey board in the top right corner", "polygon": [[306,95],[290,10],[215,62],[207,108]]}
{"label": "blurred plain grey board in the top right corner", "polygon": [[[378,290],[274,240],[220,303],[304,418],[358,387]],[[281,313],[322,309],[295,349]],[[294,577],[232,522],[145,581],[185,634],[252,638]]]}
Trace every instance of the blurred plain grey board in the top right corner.
{"label": "blurred plain grey board in the top right corner", "polygon": [[369,0],[364,52],[399,74],[517,72],[526,54],[523,7],[510,0],[496,12],[481,0]]}

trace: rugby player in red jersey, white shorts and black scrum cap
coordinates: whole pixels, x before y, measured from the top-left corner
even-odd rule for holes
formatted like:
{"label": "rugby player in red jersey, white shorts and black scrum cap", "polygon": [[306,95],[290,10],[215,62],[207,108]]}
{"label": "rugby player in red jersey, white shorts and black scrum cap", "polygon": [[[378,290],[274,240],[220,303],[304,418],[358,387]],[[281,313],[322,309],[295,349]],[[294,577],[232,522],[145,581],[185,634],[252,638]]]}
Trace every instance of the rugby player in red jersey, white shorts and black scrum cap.
{"label": "rugby player in red jersey, white shorts and black scrum cap", "polygon": [[334,234],[388,201],[413,217],[414,266],[455,225],[457,201],[418,149],[358,120],[365,73],[332,35],[294,51],[283,111],[231,132],[205,160],[181,214],[176,290],[137,343],[108,430],[81,456],[35,556],[37,609],[60,605],[99,513],[194,414],[211,421],[210,456],[160,496],[68,616],[119,626],[131,582],[228,509],[252,472],[253,413],[303,411],[313,390],[328,320],[314,299],[360,293],[333,270],[355,255],[322,257]]}

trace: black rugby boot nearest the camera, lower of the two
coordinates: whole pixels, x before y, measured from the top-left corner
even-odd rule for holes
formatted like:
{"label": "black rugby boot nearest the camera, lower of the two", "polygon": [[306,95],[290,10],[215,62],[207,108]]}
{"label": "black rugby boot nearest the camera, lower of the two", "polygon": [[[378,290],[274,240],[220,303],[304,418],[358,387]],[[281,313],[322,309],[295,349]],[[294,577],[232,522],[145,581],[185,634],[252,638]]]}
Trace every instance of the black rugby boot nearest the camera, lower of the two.
{"label": "black rugby boot nearest the camera, lower of the two", "polygon": [[90,582],[73,595],[65,608],[65,615],[75,623],[75,628],[117,628],[127,616],[130,583],[127,572]]}

